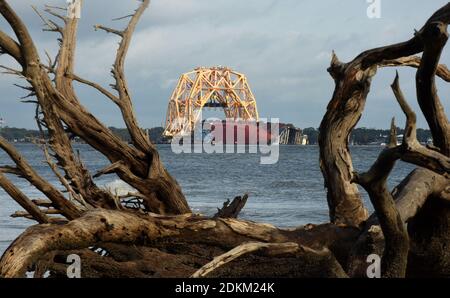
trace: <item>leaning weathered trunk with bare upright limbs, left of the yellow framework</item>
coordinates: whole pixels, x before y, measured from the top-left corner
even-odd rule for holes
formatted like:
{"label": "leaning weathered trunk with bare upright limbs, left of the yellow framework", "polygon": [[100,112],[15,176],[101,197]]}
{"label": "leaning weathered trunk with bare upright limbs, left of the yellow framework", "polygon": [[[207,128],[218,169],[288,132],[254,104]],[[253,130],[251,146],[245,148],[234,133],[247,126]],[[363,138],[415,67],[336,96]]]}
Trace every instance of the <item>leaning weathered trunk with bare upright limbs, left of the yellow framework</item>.
{"label": "leaning weathered trunk with bare upright limbs, left of the yellow framework", "polygon": [[[118,50],[117,60],[113,67],[116,79],[115,89],[118,96],[103,90],[105,95],[114,98],[124,116],[124,121],[133,136],[135,147],[131,147],[114,136],[103,124],[91,115],[78,101],[72,86],[73,59],[76,45],[78,21],[75,18],[61,17],[64,28],[54,23],[48,23],[50,29],[62,36],[61,48],[54,65],[44,68],[37,54],[31,36],[20,20],[5,1],[0,2],[0,12],[13,28],[19,39],[19,44],[5,42],[23,67],[22,75],[32,86],[33,95],[43,113],[42,123],[45,123],[50,135],[50,146],[55,153],[58,164],[66,172],[74,190],[85,197],[94,206],[117,207],[111,194],[95,186],[90,174],[77,161],[73,154],[63,123],[68,129],[84,139],[92,147],[103,153],[112,163],[108,171],[136,188],[144,197],[148,211],[168,214],[181,214],[190,209],[181,192],[178,183],[162,165],[157,150],[151,144],[143,130],[137,126],[124,76],[124,60],[135,25],[149,1],[144,1],[132,16],[127,28],[120,32],[122,42]],[[5,43],[4,42],[4,43]],[[16,49],[18,47],[19,49]],[[47,72],[54,74],[54,84]],[[98,86],[93,84],[93,86]],[[133,123],[133,124],[129,124]],[[145,147],[145,148],[144,148]]]}

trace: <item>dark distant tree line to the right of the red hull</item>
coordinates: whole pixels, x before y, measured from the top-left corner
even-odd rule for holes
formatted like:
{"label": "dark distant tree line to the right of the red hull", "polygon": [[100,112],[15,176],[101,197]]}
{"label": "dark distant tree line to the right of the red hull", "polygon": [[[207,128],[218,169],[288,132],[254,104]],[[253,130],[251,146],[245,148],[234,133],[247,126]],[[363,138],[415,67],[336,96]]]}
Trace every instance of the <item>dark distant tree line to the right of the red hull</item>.
{"label": "dark distant tree line to the right of the red hull", "polygon": [[[402,135],[404,129],[397,127],[397,135]],[[317,145],[319,130],[314,127],[303,129],[303,134],[308,136],[311,145]],[[389,129],[375,129],[360,127],[355,128],[350,135],[350,143],[355,145],[381,144],[387,143],[389,138]],[[431,139],[431,132],[428,129],[417,129],[417,139],[419,142],[426,143]]]}

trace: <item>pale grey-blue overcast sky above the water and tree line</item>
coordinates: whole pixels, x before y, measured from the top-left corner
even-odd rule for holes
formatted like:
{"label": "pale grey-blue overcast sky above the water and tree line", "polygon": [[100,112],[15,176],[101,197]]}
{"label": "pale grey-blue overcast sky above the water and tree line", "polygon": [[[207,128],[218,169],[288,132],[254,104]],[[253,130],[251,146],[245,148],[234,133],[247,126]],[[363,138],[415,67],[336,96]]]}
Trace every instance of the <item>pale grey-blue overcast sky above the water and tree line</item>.
{"label": "pale grey-blue overcast sky above the water and tree line", "polygon": [[[9,1],[29,25],[44,59],[55,54],[54,33],[42,32],[31,5],[44,1]],[[381,18],[367,17],[366,0],[153,0],[139,23],[126,62],[135,109],[143,127],[164,122],[169,96],[180,74],[198,66],[226,65],[247,75],[261,117],[278,117],[299,127],[318,127],[334,82],[326,68],[334,49],[342,61],[361,51],[409,39],[446,0],[381,0]],[[47,1],[64,5],[65,0]],[[105,86],[118,39],[95,32],[100,23],[117,28],[138,5],[135,0],[85,0],[76,56],[77,74]],[[10,33],[0,21],[1,30]],[[449,63],[448,51],[441,62]],[[11,65],[6,57],[0,63]],[[394,69],[378,72],[358,126],[387,128],[392,116],[403,126],[390,83]],[[415,72],[400,69],[400,82],[417,110]],[[8,126],[34,127],[32,105],[19,103],[24,93],[0,75],[0,117]],[[450,87],[439,81],[449,110]],[[123,127],[117,108],[97,92],[78,87],[79,97],[107,125]],[[214,113],[217,115],[217,113]],[[426,127],[419,117],[419,127]]]}

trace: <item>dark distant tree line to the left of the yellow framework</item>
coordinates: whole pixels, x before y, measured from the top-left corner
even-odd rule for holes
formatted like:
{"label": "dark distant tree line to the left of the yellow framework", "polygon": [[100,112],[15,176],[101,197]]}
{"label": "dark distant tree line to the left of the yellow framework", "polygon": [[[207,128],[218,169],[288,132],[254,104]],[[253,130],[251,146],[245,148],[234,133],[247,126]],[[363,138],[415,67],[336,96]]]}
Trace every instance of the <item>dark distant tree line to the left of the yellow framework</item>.
{"label": "dark distant tree line to the left of the yellow framework", "polygon": [[[128,130],[126,128],[109,127],[109,129],[123,141],[131,141],[130,134],[128,133]],[[162,127],[154,127],[148,129],[148,134],[153,143],[168,143],[167,138],[162,135],[163,131],[164,128]],[[40,137],[40,133],[38,130],[8,126],[0,128],[0,135],[8,141],[16,142],[31,142],[33,139]],[[78,138],[74,138],[74,140],[77,141]]]}

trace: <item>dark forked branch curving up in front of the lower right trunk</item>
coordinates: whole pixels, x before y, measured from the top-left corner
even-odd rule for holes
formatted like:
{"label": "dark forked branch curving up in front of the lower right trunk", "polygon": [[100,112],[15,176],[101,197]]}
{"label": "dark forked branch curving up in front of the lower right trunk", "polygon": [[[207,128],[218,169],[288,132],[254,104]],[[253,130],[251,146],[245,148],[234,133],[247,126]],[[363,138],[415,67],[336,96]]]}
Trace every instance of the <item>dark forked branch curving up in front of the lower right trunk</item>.
{"label": "dark forked branch curving up in front of the lower right trunk", "polygon": [[398,73],[391,85],[395,97],[406,115],[403,143],[383,150],[370,170],[354,174],[353,181],[369,193],[385,238],[383,274],[386,277],[404,277],[409,250],[408,234],[402,217],[395,206],[392,194],[387,189],[387,177],[398,159],[426,167],[449,177],[450,158],[439,152],[423,147],[416,137],[416,115],[405,100],[399,86]]}

